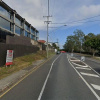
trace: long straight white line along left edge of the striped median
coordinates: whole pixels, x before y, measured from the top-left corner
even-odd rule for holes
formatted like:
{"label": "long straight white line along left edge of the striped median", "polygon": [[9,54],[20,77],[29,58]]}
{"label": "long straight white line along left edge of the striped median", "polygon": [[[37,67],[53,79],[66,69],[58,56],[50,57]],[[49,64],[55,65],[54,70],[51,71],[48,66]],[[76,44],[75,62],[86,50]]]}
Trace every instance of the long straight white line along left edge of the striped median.
{"label": "long straight white line along left edge of the striped median", "polygon": [[[69,59],[68,62],[70,63]],[[70,63],[71,64],[71,63]],[[71,66],[74,68],[76,73],[81,77],[81,79],[85,82],[85,84],[88,86],[88,88],[91,90],[91,92],[95,95],[95,97],[100,100],[100,97],[97,95],[97,93],[93,90],[93,88],[87,83],[87,81],[82,77],[82,75],[75,69],[75,67],[71,64]]]}

